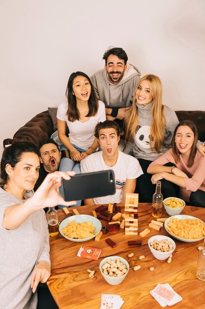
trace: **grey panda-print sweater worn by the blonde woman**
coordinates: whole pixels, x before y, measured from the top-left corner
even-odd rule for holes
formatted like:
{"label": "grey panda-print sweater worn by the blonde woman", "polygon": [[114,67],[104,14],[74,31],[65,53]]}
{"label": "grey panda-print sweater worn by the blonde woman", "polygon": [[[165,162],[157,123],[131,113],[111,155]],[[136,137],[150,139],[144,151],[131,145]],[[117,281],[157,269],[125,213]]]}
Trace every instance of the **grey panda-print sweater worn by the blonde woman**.
{"label": "grey panda-print sweater worn by the blonde woman", "polygon": [[176,125],[178,124],[178,118],[176,113],[169,107],[164,106],[164,114],[166,118],[166,126],[164,128],[164,141],[167,148],[163,147],[160,154],[156,151],[150,150],[150,125],[151,125],[151,104],[146,106],[142,104],[137,104],[138,107],[138,119],[139,128],[134,135],[133,143],[128,142],[124,150],[125,154],[134,155],[136,158],[142,158],[145,160],[154,161],[161,154],[164,154],[170,147],[172,142],[172,137]]}

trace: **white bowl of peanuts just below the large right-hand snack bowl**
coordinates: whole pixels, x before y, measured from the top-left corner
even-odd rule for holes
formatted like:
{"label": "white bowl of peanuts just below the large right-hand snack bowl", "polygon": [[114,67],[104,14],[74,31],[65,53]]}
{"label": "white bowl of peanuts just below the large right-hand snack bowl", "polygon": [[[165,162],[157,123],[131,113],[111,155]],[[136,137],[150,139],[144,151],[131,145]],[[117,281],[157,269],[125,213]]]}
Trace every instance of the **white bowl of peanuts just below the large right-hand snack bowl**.
{"label": "white bowl of peanuts just below the large right-hand snack bowl", "polygon": [[164,235],[154,235],[149,238],[148,246],[157,260],[166,260],[175,251],[176,244],[174,240]]}

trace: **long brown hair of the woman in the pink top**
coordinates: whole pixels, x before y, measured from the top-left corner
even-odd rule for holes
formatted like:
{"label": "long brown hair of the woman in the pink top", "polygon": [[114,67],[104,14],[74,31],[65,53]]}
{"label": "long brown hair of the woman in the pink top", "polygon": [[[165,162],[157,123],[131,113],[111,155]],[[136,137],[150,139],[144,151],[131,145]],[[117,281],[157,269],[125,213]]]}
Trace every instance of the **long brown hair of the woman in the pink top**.
{"label": "long brown hair of the woman in the pink top", "polygon": [[173,151],[173,156],[175,159],[175,162],[178,163],[180,162],[180,151],[178,150],[178,148],[176,147],[176,143],[175,143],[175,137],[176,137],[176,131],[178,129],[178,127],[182,126],[182,125],[187,125],[188,127],[190,127],[190,129],[193,131],[194,133],[194,142],[192,144],[191,147],[191,152],[189,154],[189,158],[188,158],[188,162],[187,162],[187,167],[191,167],[194,164],[194,159],[197,153],[197,140],[198,140],[198,131],[197,131],[197,127],[194,124],[194,122],[192,122],[191,120],[182,120],[180,121],[174,131],[173,134],[173,138],[172,138],[172,151]]}

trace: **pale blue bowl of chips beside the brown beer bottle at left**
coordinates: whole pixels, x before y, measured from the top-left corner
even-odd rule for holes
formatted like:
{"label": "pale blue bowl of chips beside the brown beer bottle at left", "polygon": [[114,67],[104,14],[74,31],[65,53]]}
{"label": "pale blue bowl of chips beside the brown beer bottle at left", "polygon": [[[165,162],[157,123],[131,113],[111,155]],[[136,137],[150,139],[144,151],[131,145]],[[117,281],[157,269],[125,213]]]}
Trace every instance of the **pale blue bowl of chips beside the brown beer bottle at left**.
{"label": "pale blue bowl of chips beside the brown beer bottle at left", "polygon": [[64,219],[59,225],[60,234],[71,241],[88,241],[102,229],[101,222],[89,215],[76,215]]}

